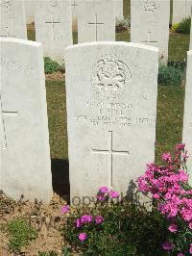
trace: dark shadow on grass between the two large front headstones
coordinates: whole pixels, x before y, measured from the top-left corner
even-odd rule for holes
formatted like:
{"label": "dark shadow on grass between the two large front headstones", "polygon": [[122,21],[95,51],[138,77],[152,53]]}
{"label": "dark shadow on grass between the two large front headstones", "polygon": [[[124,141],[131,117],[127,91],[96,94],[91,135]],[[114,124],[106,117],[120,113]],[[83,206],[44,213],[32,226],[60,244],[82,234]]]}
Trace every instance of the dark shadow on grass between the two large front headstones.
{"label": "dark shadow on grass between the two large front headstones", "polygon": [[70,201],[69,163],[63,159],[52,159],[52,185],[54,192],[58,193],[67,202]]}

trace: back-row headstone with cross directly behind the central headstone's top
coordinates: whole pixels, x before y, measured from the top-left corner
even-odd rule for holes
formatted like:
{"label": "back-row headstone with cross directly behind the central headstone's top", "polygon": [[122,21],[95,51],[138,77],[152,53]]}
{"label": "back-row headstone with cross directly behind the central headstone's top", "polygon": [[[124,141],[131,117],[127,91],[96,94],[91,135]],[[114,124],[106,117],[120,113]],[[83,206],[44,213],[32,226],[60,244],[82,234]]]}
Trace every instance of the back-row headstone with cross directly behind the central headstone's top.
{"label": "back-row headstone with cross directly behind the central headstone's top", "polygon": [[115,40],[114,0],[78,3],[78,42]]}

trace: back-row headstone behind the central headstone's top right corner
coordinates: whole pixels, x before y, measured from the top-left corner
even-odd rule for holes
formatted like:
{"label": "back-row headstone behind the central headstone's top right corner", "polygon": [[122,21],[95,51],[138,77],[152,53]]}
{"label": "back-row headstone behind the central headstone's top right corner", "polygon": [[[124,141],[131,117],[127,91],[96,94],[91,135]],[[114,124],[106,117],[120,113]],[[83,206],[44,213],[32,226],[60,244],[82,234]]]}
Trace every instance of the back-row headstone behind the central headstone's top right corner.
{"label": "back-row headstone behind the central headstone's top right corner", "polygon": [[131,41],[159,49],[162,63],[168,60],[170,0],[131,1]]}

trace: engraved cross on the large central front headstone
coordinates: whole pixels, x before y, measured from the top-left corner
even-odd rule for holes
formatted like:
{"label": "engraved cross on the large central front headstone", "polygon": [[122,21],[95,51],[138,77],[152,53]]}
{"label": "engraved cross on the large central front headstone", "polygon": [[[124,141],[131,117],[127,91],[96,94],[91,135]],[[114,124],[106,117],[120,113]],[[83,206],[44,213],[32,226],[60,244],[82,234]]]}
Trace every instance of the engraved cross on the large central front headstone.
{"label": "engraved cross on the large central front headstone", "polygon": [[112,131],[108,131],[108,149],[92,149],[93,154],[108,155],[108,187],[110,188],[112,188],[113,185],[113,155],[129,156],[129,151],[117,151],[113,149],[112,136]]}

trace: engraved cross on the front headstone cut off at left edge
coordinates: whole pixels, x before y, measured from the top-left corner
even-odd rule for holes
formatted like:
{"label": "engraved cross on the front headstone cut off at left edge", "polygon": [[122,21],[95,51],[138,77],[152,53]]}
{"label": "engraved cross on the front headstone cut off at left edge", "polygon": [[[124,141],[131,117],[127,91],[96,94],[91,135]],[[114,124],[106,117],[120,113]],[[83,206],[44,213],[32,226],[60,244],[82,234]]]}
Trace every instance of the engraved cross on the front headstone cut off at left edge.
{"label": "engraved cross on the front headstone cut off at left edge", "polygon": [[1,115],[1,131],[2,131],[2,146],[3,149],[7,149],[8,143],[7,143],[7,137],[6,137],[6,125],[5,125],[5,120],[4,120],[4,115],[9,115],[9,116],[18,116],[17,111],[3,111],[3,104],[1,100],[2,96],[0,94],[0,115]]}

